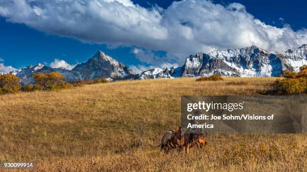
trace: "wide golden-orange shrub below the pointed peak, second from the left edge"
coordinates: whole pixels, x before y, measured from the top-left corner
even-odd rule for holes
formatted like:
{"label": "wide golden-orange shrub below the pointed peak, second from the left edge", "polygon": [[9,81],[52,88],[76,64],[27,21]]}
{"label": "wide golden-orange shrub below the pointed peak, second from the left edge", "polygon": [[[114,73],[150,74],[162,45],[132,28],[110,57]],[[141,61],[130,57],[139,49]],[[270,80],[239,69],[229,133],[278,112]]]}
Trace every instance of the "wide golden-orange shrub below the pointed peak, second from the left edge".
{"label": "wide golden-orange shrub below the pointed peak, second from the left edge", "polygon": [[36,80],[36,84],[34,85],[34,89],[38,90],[56,90],[63,88],[70,88],[72,84],[65,82],[63,76],[59,72],[51,72],[51,73],[34,73],[34,79]]}

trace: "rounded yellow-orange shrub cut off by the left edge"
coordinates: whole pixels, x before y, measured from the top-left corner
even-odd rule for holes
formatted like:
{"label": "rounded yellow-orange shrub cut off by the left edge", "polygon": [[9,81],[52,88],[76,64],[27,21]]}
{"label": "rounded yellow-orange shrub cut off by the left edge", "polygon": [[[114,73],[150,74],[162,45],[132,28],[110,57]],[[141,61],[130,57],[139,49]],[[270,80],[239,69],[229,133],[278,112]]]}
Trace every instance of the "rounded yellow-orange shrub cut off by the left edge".
{"label": "rounded yellow-orange shrub cut off by the left edge", "polygon": [[16,93],[21,89],[20,77],[14,74],[0,74],[0,94]]}

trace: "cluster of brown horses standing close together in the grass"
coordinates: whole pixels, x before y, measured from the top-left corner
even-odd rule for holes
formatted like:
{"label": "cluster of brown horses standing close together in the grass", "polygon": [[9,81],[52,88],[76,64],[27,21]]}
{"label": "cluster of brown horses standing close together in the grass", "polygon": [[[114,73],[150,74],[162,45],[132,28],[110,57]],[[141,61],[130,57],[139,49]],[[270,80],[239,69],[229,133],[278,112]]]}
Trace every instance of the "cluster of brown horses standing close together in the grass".
{"label": "cluster of brown horses standing close together in the grass", "polygon": [[186,153],[189,152],[189,148],[196,145],[198,148],[202,148],[207,145],[207,133],[185,133],[184,130],[179,127],[177,129],[169,130],[166,132],[161,140],[161,151],[168,152],[171,148],[182,150],[186,149]]}

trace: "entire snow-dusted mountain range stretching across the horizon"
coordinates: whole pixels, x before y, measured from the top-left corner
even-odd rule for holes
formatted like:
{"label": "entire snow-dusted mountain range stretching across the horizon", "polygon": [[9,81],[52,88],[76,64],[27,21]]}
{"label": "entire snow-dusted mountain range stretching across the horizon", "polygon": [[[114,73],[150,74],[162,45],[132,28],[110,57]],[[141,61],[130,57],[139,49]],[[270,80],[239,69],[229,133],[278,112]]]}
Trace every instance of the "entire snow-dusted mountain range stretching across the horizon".
{"label": "entire snow-dusted mountain range stretching across the horizon", "polygon": [[15,71],[21,83],[34,83],[33,73],[57,71],[66,76],[67,81],[86,80],[99,77],[109,79],[149,79],[209,76],[218,73],[224,76],[279,76],[285,69],[298,71],[307,64],[307,44],[285,52],[270,52],[257,46],[240,49],[215,50],[208,54],[200,52],[186,58],[181,67],[152,68],[134,73],[125,64],[118,62],[102,51],[98,51],[86,62],[73,69],[51,68],[43,64],[27,66]]}

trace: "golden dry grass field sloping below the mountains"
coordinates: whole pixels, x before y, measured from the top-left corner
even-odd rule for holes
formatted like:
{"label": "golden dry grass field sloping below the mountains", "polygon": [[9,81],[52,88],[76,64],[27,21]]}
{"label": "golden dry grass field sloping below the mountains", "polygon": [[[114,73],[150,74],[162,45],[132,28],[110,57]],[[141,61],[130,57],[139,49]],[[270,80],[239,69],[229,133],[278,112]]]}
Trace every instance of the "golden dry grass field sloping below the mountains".
{"label": "golden dry grass field sloping below the mountains", "polygon": [[306,171],[306,134],[209,134],[201,150],[160,152],[163,134],[180,124],[181,95],[254,95],[276,78],[224,79],[0,95],[0,161],[34,161],[35,171]]}

